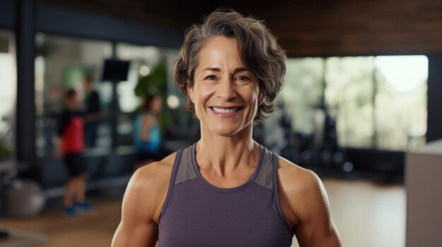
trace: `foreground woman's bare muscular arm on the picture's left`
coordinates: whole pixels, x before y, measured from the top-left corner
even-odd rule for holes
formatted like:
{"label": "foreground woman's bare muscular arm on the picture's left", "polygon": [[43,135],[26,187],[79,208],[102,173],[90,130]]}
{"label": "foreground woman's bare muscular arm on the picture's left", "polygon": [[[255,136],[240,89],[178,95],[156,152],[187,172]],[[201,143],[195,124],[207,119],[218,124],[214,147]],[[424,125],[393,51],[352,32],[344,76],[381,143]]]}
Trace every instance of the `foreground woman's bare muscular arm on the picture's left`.
{"label": "foreground woman's bare muscular arm on the picture's left", "polygon": [[124,194],[121,222],[112,239],[112,247],[155,246],[158,236],[160,203],[167,184],[160,163],[139,168]]}

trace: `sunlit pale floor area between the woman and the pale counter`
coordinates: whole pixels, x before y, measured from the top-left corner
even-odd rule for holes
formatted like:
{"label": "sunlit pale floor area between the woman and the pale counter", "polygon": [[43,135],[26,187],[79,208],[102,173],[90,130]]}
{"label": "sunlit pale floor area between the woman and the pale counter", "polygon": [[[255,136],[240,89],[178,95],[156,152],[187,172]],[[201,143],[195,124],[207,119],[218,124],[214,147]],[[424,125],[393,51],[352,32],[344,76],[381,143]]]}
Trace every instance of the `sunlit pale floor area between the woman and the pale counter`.
{"label": "sunlit pale floor area between the woman and the pale counter", "polygon": [[323,183],[342,246],[405,246],[404,186],[338,179]]}

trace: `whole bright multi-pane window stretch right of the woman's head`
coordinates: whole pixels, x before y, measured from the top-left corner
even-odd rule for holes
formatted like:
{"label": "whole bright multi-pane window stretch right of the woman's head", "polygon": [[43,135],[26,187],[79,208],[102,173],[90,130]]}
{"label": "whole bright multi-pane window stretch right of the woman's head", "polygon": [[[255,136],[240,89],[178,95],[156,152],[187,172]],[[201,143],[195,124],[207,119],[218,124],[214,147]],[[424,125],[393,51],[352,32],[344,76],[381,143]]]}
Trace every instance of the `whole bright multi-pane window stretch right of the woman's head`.
{"label": "whole bright multi-pane window stretch right of the woman's head", "polygon": [[406,150],[425,143],[426,56],[289,58],[280,94],[294,132],[317,134],[321,101],[338,144]]}

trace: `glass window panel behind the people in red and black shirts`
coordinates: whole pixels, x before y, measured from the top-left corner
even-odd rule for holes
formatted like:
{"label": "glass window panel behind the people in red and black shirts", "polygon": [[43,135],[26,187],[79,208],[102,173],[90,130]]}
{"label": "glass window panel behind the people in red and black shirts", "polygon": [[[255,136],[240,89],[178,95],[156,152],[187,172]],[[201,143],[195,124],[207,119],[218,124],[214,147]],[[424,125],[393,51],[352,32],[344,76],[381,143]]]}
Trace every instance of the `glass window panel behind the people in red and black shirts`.
{"label": "glass window panel behind the people in red and black shirts", "polygon": [[37,34],[35,37],[37,57],[35,58],[35,107],[36,107],[36,149],[37,156],[51,156],[54,148],[56,124],[63,108],[64,91],[73,88],[80,99],[88,95],[83,87],[85,75],[91,75],[92,88],[100,96],[104,112],[98,121],[96,137],[92,146],[107,148],[112,143],[109,114],[106,114],[112,100],[112,87],[100,83],[103,60],[112,55],[112,44],[87,39]]}

